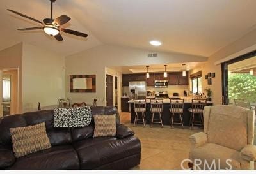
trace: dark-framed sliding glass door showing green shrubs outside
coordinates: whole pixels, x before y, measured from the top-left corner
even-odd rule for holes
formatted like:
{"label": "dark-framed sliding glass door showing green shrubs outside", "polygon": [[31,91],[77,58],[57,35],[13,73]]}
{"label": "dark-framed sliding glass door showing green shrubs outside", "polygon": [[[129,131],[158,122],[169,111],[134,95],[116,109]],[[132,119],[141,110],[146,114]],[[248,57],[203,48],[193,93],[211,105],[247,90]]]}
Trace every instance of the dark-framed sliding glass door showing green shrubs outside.
{"label": "dark-framed sliding glass door showing green shrubs outside", "polygon": [[256,52],[222,64],[223,104],[256,105]]}

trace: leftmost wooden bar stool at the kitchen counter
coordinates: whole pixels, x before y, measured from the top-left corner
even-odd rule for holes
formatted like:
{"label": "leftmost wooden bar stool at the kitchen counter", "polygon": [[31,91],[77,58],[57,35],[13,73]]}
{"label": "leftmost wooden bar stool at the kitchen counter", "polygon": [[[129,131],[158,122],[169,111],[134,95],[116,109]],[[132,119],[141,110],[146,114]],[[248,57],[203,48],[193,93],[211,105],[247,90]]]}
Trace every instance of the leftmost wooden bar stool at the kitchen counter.
{"label": "leftmost wooden bar stool at the kitchen counter", "polygon": [[[134,99],[134,112],[135,119],[134,119],[134,126],[136,126],[136,123],[143,123],[143,126],[145,127],[146,124],[146,100],[145,99]],[[141,113],[141,118],[139,119],[139,113]]]}

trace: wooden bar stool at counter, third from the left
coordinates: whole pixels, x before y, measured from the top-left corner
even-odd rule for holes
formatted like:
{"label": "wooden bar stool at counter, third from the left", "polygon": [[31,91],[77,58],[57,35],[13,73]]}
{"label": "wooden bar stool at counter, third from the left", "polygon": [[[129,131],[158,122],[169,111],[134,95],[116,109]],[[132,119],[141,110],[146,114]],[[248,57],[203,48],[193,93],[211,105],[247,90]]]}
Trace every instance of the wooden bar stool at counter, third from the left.
{"label": "wooden bar stool at counter, third from the left", "polygon": [[[182,115],[183,115],[183,108],[184,108],[184,99],[170,99],[170,112],[171,112],[171,120],[170,120],[170,126],[173,128],[173,124],[181,124],[182,128],[184,129]],[[175,113],[179,115],[179,120],[175,120],[174,116]],[[176,122],[173,122],[176,121]]]}

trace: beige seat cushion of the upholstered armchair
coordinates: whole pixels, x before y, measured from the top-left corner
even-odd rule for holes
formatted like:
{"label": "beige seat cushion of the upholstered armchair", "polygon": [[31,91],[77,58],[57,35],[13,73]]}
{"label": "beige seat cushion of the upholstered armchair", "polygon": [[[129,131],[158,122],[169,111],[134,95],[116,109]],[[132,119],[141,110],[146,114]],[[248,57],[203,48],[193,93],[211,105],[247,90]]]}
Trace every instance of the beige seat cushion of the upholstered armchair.
{"label": "beige seat cushion of the upholstered armchair", "polygon": [[[205,143],[204,145],[191,150],[189,153],[189,159],[192,161],[195,159],[205,160],[209,166],[211,166],[212,161],[215,160],[216,168],[213,167],[211,169],[230,169],[230,165],[232,166],[232,169],[240,169],[244,168],[244,165],[247,165],[248,163],[243,160],[241,161],[239,154],[240,153],[237,150],[230,149],[228,147],[223,147],[214,143]],[[231,161],[228,161],[228,164],[226,163],[227,159],[231,159]],[[220,166],[218,166],[218,160],[220,160]],[[204,168],[204,164],[206,163],[202,161],[202,164],[199,165],[200,169],[208,169],[207,166]]]}

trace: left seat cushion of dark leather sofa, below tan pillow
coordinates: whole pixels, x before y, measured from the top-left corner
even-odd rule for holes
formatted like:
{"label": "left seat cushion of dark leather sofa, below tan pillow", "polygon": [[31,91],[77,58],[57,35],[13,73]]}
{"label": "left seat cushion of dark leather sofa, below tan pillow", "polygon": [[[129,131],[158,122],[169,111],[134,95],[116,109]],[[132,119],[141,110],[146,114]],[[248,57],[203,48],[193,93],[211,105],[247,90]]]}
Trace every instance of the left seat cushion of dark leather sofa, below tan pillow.
{"label": "left seat cushion of dark leather sofa, below tan pillow", "polygon": [[72,145],[61,145],[20,157],[8,169],[79,169]]}

